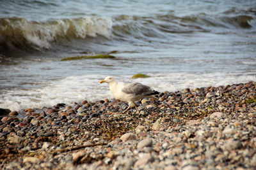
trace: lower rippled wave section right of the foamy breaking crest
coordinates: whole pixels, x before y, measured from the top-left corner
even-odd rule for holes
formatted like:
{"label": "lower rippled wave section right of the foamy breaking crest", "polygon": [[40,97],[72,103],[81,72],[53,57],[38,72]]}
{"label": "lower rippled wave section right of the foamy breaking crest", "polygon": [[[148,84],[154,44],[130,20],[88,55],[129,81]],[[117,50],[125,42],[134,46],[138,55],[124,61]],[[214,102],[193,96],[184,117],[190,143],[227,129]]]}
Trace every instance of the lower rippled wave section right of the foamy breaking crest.
{"label": "lower rippled wave section right of the foamy breaking crest", "polygon": [[175,15],[156,15],[154,17],[139,17],[118,15],[114,17],[113,34],[120,38],[166,38],[166,34],[180,34],[193,32],[236,32],[241,29],[256,27],[256,17],[253,15],[189,15],[177,17]]}

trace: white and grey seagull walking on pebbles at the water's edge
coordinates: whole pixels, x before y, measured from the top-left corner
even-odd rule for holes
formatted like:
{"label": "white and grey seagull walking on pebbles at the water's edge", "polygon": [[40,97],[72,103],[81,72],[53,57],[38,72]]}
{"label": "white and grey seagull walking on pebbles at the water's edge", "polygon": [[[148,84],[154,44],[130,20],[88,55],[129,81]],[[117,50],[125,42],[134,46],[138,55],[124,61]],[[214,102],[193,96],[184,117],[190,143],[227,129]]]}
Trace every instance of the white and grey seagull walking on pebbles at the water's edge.
{"label": "white and grey seagull walking on pebbles at the water's edge", "polygon": [[100,83],[108,83],[109,89],[116,99],[129,103],[129,107],[122,113],[129,110],[132,106],[131,104],[134,104],[137,113],[140,113],[134,101],[139,101],[145,97],[156,98],[154,95],[159,94],[156,90],[141,83],[117,83],[112,76],[107,76]]}

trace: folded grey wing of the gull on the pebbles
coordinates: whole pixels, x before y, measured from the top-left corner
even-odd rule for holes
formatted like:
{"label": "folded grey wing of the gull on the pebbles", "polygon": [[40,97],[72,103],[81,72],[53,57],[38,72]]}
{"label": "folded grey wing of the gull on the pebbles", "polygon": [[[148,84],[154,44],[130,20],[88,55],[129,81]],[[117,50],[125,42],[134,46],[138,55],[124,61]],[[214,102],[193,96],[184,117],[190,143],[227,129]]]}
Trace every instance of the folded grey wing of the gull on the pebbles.
{"label": "folded grey wing of the gull on the pebbles", "polygon": [[128,83],[122,89],[122,92],[125,92],[127,94],[149,96],[152,95],[155,92],[155,90],[152,90],[147,85],[143,85],[141,83]]}

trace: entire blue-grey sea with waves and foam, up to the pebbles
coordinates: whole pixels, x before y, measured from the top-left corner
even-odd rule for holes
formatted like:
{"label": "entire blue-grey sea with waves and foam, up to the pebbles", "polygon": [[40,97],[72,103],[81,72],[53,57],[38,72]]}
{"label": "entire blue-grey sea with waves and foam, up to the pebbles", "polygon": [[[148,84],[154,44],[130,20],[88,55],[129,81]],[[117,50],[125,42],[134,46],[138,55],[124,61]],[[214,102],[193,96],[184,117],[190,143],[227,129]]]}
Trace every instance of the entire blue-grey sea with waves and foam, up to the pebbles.
{"label": "entire blue-grey sea with waves and foam, up to the pebbles", "polygon": [[[14,10],[12,10],[14,9]],[[256,81],[256,1],[3,1],[0,108],[112,99],[108,75],[159,91]],[[113,53],[115,59],[61,61]]]}

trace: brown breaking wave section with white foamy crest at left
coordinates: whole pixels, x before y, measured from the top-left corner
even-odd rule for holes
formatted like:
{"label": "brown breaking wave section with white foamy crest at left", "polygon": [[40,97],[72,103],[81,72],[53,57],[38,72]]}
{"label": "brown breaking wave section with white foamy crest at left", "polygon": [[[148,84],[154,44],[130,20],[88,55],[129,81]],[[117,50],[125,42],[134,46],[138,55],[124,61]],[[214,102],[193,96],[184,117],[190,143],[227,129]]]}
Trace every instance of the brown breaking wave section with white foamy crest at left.
{"label": "brown breaking wave section with white foamy crest at left", "polygon": [[45,22],[25,18],[0,18],[0,52],[21,50],[44,50],[52,43],[70,39],[85,39],[97,35],[109,38],[112,21],[108,18],[84,17],[56,19]]}

